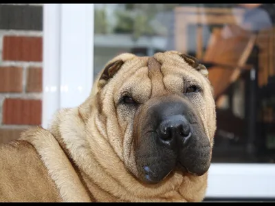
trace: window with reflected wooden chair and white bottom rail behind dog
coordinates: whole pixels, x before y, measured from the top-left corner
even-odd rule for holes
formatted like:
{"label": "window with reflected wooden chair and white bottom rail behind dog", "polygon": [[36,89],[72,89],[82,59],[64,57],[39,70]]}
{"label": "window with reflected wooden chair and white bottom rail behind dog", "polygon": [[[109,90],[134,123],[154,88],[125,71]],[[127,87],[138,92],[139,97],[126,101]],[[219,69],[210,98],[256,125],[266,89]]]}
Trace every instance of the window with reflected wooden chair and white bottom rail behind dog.
{"label": "window with reflected wooden chair and white bottom rail behind dog", "polygon": [[122,52],[175,49],[208,67],[217,103],[208,197],[275,196],[274,10],[265,4],[95,5],[94,77]]}

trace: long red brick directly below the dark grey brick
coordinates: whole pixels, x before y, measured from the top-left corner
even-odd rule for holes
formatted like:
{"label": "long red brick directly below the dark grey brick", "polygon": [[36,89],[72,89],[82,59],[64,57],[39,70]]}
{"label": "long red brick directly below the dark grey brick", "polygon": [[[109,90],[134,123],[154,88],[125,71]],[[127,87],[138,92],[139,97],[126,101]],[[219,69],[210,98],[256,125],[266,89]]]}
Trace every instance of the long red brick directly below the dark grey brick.
{"label": "long red brick directly below the dark grey brick", "polygon": [[3,60],[42,61],[42,38],[36,36],[4,36]]}

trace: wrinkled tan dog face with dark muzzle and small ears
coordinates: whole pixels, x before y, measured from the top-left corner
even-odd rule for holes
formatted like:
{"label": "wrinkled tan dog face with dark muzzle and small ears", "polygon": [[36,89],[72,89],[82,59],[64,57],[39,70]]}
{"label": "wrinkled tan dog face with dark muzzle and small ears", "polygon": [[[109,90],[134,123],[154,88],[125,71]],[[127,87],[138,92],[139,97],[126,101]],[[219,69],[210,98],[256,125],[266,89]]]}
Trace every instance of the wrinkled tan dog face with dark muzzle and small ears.
{"label": "wrinkled tan dog face with dark muzzle and small ears", "polygon": [[107,121],[118,122],[107,128],[116,131],[110,144],[140,181],[208,171],[216,119],[207,75],[195,58],[178,52],[122,54],[105,67],[97,97]]}

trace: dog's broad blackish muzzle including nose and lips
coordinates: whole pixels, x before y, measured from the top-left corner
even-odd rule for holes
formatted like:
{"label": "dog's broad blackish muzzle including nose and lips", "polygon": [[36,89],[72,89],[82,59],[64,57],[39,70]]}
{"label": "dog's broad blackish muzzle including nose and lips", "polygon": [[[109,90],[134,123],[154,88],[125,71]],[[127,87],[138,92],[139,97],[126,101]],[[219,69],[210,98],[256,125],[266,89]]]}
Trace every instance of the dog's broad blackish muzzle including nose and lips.
{"label": "dog's broad blackish muzzle including nose and lips", "polygon": [[158,183],[173,170],[205,174],[211,147],[195,108],[183,98],[155,101],[137,115],[135,159],[140,178]]}

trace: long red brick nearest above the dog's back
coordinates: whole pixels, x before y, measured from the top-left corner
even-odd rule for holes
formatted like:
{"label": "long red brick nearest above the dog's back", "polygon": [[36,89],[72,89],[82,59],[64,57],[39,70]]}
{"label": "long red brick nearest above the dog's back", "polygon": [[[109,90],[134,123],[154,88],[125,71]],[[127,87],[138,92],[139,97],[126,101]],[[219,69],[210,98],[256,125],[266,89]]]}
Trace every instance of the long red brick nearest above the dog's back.
{"label": "long red brick nearest above the dog's back", "polygon": [[5,99],[3,124],[41,125],[41,100]]}

